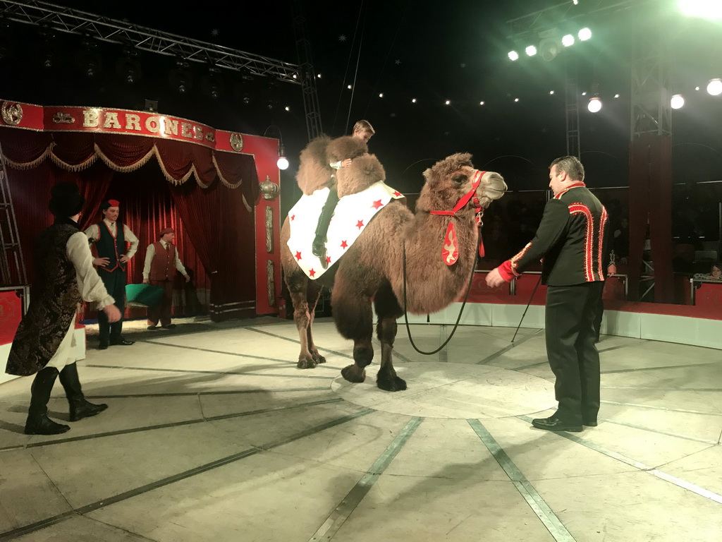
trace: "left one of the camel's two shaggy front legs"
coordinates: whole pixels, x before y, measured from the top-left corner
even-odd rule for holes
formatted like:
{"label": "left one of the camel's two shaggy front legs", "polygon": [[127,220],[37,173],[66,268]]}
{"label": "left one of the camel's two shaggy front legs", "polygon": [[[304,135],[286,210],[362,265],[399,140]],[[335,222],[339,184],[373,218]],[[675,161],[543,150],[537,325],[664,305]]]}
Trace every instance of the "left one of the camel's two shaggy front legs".
{"label": "left one of the camel's two shaggy front legs", "polygon": [[353,284],[336,277],[331,292],[334,307],[334,322],[339,333],[354,341],[354,364],[344,367],[341,374],[349,382],[363,382],[367,365],[373,360],[373,314],[371,299],[357,292]]}

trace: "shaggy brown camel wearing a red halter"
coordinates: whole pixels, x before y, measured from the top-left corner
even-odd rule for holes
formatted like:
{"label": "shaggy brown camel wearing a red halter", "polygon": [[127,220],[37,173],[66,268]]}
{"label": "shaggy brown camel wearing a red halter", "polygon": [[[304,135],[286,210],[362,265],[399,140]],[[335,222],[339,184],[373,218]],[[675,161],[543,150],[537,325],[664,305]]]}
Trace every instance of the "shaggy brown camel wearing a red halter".
{"label": "shaggy brown camel wearing a red halter", "polygon": [[[385,178],[383,167],[374,155],[362,154],[353,160],[352,168],[346,169],[349,171],[339,170],[336,178],[339,198],[361,192]],[[302,170],[299,168],[299,175]],[[474,205],[486,208],[494,199],[502,197],[507,188],[499,173],[474,169],[471,155],[464,153],[440,160],[424,172],[424,177],[425,185],[415,214],[404,201],[391,199],[367,223],[346,254],[318,280],[308,278],[288,248],[290,218],[286,218],[281,231],[281,264],[300,340],[299,369],[313,369],[326,362],[311,332],[321,287],[326,285],[331,288],[336,329],[354,341],[354,364],[342,369],[344,379],[365,380],[365,367],[374,355],[373,303],[381,343],[377,386],[389,392],[406,390],[406,382],[396,375],[392,361],[396,319],[404,314],[404,249],[407,310],[412,314],[430,314],[452,304],[464,292],[476,262],[479,231]],[[301,181],[299,178],[299,184]],[[324,181],[328,181],[328,176],[316,187],[323,186]],[[476,189],[474,181],[478,184]],[[459,202],[464,205],[458,205],[461,208],[455,216],[433,214],[454,210]],[[450,224],[456,233],[451,238]],[[453,264],[442,257],[443,249],[448,255],[450,245],[452,252],[458,249],[458,259]]]}

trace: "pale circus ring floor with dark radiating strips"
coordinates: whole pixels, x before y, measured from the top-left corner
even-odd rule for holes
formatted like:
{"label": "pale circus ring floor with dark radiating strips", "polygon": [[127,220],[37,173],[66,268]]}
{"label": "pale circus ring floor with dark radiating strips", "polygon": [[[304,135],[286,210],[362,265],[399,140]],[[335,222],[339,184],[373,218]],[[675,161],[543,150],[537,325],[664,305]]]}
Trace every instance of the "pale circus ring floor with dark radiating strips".
{"label": "pale circus ring floor with dark radiating strips", "polygon": [[[450,330],[412,326],[423,350]],[[305,371],[285,320],[136,327],[103,352],[91,329],[105,413],[25,436],[30,379],[0,386],[0,540],[718,541],[720,350],[603,336],[599,426],[554,434],[529,424],[554,405],[543,332],[513,332],[421,356],[399,327],[392,394],[376,364],[339,377],[351,343],[327,319]],[[49,408],[67,419],[59,384]]]}

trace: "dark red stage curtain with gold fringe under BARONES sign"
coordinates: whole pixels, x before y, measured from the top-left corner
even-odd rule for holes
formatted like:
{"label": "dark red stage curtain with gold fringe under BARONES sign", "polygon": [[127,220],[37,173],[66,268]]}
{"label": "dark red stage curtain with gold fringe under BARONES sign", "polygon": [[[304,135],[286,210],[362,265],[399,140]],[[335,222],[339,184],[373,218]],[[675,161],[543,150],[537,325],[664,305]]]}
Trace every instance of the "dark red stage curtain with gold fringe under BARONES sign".
{"label": "dark red stage curtain with gold fringe under BARONES sign", "polygon": [[[140,241],[129,283],[142,281],[147,246],[170,226],[196,296],[189,299],[183,290],[178,310],[187,313],[200,303],[214,319],[254,314],[254,221],[247,206],[258,202],[260,191],[253,156],[149,137],[18,129],[0,129],[0,144],[11,166],[26,264],[32,261],[32,242],[52,222],[51,186],[74,181],[86,198],[82,228],[100,220],[105,199],[121,202],[120,220]],[[158,160],[150,160],[154,156]],[[32,282],[31,269],[28,279]]]}

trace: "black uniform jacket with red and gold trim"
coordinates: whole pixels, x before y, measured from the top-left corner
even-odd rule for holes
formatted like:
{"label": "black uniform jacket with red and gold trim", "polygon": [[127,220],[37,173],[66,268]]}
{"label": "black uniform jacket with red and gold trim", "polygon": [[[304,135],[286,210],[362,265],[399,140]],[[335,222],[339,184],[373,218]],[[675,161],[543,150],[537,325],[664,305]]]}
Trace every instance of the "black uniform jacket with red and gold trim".
{"label": "black uniform jacket with red and gold trim", "polygon": [[506,280],[542,260],[541,283],[567,286],[604,280],[606,209],[584,183],[575,183],[547,202],[534,238],[500,265]]}

